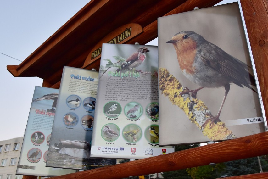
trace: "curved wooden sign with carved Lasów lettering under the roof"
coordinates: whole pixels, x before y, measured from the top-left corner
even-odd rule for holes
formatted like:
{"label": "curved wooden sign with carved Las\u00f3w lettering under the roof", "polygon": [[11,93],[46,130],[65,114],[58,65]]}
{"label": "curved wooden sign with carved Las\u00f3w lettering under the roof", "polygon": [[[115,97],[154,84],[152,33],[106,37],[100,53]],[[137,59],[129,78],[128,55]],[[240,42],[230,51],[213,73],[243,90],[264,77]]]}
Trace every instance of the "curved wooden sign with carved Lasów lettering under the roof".
{"label": "curved wooden sign with carved Las\u00f3w lettering under the roof", "polygon": [[88,54],[87,59],[84,63],[84,67],[90,64],[91,62],[97,60],[101,56],[101,49],[103,43],[124,43],[131,38],[137,36],[142,33],[142,26],[139,24],[126,24],[123,25],[110,34],[105,36],[101,41],[99,41],[94,48],[92,48],[91,52]]}

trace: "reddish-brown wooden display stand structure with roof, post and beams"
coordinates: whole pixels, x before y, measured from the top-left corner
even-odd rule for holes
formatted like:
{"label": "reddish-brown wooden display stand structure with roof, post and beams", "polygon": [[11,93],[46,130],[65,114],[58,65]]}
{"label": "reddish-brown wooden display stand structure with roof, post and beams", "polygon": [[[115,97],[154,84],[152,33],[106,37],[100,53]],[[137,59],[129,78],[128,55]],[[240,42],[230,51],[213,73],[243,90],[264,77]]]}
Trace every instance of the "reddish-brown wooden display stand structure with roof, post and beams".
{"label": "reddish-brown wooden display stand structure with roof, post and beams", "polygon": [[[157,18],[205,8],[221,0],[92,0],[20,65],[8,65],[15,77],[38,76],[43,87],[59,88],[63,66],[99,69],[101,43],[145,44],[157,37]],[[268,1],[240,0],[260,83],[268,110]],[[131,35],[128,33],[131,29]],[[116,38],[115,38],[116,37]],[[268,133],[106,166],[53,178],[125,178],[220,163],[268,154]],[[267,178],[258,173],[230,178]],[[24,176],[24,178],[36,178]]]}

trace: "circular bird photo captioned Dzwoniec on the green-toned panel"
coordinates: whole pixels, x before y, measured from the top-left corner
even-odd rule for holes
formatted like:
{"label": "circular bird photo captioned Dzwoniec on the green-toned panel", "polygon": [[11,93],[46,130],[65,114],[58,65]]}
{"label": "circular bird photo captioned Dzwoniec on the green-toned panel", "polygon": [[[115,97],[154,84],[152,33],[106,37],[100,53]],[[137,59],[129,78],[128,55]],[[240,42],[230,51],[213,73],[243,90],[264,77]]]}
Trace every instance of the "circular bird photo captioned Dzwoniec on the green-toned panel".
{"label": "circular bird photo captioned Dzwoniec on the green-toned panel", "polygon": [[123,136],[127,142],[135,143],[142,137],[142,130],[136,124],[129,124],[123,129]]}

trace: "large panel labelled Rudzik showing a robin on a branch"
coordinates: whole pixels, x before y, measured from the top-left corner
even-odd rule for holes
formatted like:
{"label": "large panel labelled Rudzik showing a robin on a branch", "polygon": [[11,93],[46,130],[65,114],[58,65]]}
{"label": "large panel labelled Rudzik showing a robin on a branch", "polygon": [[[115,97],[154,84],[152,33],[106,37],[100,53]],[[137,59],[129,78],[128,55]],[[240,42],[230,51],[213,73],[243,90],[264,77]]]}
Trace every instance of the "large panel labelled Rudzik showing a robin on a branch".
{"label": "large panel labelled Rudzik showing a robin on a branch", "polygon": [[265,131],[238,3],[158,18],[158,47],[161,146]]}

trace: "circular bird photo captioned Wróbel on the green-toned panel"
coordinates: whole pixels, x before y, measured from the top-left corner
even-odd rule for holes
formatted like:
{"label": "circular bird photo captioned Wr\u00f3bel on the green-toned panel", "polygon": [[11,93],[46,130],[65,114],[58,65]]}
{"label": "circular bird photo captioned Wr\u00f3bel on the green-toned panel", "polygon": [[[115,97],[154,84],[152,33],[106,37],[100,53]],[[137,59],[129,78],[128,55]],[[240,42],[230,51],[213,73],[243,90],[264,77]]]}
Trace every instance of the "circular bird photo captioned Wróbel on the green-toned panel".
{"label": "circular bird photo captioned Wr\u00f3bel on the green-toned panel", "polygon": [[115,141],[120,135],[120,129],[117,125],[109,123],[103,126],[101,137],[108,142]]}

